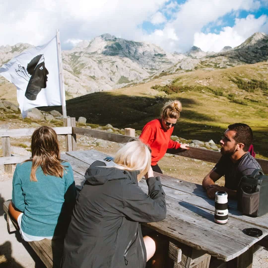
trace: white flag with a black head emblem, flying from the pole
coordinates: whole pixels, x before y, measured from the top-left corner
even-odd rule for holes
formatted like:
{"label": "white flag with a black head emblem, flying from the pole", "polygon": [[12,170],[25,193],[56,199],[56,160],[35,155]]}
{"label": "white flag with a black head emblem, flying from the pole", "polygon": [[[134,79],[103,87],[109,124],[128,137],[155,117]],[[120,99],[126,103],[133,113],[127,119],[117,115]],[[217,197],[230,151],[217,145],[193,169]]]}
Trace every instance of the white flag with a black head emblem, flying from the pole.
{"label": "white flag with a black head emblem, flying from the pole", "polygon": [[11,59],[0,68],[0,74],[16,85],[23,118],[33,107],[62,105],[56,36]]}

